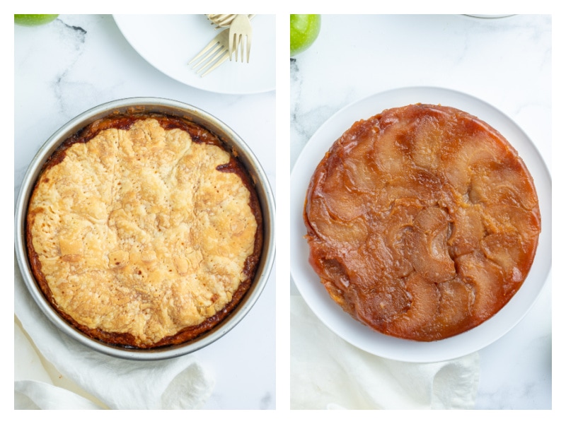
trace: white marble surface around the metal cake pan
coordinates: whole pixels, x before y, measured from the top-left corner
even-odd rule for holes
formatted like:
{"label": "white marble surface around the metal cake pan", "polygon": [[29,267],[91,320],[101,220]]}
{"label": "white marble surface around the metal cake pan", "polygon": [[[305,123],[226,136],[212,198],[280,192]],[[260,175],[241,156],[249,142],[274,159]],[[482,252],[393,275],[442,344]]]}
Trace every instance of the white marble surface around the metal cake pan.
{"label": "white marble surface around the metal cake pan", "polygon": [[[14,61],[14,199],[28,163],[59,126],[129,97],[171,98],[215,115],[248,143],[275,190],[275,90],[220,95],[174,81],[132,49],[110,15],[61,15],[37,28],[15,26]],[[275,408],[275,267],[243,321],[195,355],[216,379],[204,408]]]}

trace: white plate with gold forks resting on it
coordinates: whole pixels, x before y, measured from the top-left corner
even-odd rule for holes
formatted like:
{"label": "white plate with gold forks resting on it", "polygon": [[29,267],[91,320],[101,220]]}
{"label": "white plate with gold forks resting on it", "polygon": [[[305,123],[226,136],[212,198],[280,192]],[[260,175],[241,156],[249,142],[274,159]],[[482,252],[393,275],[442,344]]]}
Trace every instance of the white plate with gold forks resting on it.
{"label": "white plate with gold forks resting on it", "polygon": [[250,63],[227,60],[204,77],[188,62],[221,31],[205,15],[114,15],[114,20],[141,57],[187,86],[225,94],[275,90],[274,15],[253,18]]}

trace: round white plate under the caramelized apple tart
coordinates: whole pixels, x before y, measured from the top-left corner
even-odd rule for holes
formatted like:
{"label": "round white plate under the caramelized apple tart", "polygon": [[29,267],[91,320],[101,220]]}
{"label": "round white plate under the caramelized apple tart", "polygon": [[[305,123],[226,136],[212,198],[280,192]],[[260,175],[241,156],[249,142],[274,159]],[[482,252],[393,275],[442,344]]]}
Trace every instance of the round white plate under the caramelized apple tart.
{"label": "round white plate under the caramelized apple tart", "polygon": [[[308,264],[308,245],[303,223],[303,207],[311,175],[333,142],[359,119],[367,119],[382,110],[412,103],[441,104],[456,107],[487,122],[519,152],[533,176],[541,208],[542,232],[529,276],[521,289],[494,317],[463,334],[434,342],[408,341],[385,336],[360,324],[330,299],[318,276]],[[548,140],[539,141],[548,143]],[[291,276],[318,318],[345,341],[383,358],[415,363],[459,358],[478,351],[512,329],[538,298],[550,271],[551,257],[551,182],[548,170],[536,147],[512,119],[491,105],[470,95],[444,88],[400,88],[371,95],[337,112],[316,131],[299,155],[291,174]]]}

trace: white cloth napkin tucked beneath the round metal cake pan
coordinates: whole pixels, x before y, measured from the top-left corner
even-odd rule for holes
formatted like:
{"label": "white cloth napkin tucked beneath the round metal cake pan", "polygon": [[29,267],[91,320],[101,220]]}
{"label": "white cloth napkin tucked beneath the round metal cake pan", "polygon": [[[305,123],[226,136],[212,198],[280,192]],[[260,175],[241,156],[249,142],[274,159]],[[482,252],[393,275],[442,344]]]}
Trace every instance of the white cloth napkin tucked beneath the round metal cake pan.
{"label": "white cloth napkin tucked beneath the round metal cake pan", "polygon": [[54,382],[16,324],[15,409],[196,409],[212,394],[214,379],[194,353],[168,360],[122,360],[92,351],[57,330],[35,305],[16,260],[14,309],[40,355],[98,401]]}

